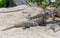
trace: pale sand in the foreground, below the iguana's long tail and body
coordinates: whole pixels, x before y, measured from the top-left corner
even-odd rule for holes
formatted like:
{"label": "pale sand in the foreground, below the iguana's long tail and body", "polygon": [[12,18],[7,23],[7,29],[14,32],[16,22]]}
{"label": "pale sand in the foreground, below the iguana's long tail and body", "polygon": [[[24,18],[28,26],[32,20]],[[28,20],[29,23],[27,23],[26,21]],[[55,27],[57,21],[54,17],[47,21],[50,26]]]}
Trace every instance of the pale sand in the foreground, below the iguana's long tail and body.
{"label": "pale sand in the foreground, below the iguana's long tail and body", "polygon": [[13,28],[6,31],[0,31],[0,38],[60,38],[60,31],[53,32],[46,27],[31,27],[23,30],[22,28]]}

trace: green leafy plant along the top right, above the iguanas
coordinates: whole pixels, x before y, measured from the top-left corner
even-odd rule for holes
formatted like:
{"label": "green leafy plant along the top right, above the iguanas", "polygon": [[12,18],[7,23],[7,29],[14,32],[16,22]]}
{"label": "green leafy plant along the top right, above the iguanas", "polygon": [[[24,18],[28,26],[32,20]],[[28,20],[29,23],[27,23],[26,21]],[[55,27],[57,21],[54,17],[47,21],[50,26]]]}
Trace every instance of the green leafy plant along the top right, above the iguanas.
{"label": "green leafy plant along the top right, above the iguanas", "polygon": [[46,0],[28,0],[28,1],[33,2],[33,3],[36,2],[37,4],[41,3],[44,8],[46,8],[47,6],[54,5],[54,4],[56,4],[56,2],[60,3],[60,0],[48,0],[48,1],[46,1]]}

